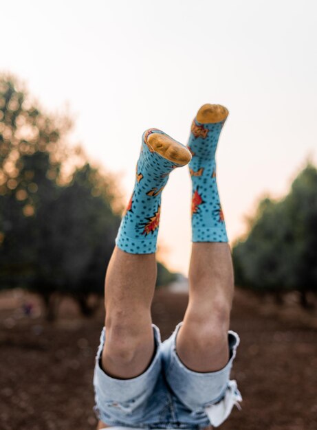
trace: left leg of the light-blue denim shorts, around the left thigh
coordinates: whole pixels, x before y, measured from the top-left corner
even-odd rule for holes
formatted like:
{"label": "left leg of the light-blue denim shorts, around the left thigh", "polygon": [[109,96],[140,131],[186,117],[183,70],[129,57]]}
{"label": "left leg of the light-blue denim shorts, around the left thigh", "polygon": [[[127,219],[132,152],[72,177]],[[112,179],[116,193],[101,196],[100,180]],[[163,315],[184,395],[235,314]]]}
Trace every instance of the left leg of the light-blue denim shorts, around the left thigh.
{"label": "left leg of the light-blue denim shorts, around the left thigh", "polygon": [[166,390],[162,381],[160,330],[152,324],[155,338],[155,355],[147,369],[130,379],[113,378],[100,367],[105,344],[105,328],[100,337],[94,368],[95,411],[107,425],[143,425],[146,420],[157,419],[164,408]]}

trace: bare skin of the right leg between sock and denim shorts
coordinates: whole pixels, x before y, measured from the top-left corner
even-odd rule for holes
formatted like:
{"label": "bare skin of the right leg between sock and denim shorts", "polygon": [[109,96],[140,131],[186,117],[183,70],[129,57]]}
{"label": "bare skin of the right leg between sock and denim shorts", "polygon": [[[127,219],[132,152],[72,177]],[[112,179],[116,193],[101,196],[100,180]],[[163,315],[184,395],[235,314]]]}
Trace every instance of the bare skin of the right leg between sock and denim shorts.
{"label": "bare skin of the right leg between sock and denim shorts", "polygon": [[177,354],[191,370],[214,372],[229,359],[234,275],[228,242],[193,242],[188,278],[189,303]]}

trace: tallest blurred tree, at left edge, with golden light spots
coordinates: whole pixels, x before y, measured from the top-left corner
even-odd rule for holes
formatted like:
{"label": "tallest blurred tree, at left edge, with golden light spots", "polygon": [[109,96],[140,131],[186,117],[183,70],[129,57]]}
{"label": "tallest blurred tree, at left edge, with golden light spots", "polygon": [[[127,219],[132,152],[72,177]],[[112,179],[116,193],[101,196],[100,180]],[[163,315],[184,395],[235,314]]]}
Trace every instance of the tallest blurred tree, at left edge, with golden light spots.
{"label": "tallest blurred tree, at left edge, with golden light spots", "polygon": [[67,118],[35,106],[13,76],[0,76],[0,288],[34,281],[36,206],[57,193]]}

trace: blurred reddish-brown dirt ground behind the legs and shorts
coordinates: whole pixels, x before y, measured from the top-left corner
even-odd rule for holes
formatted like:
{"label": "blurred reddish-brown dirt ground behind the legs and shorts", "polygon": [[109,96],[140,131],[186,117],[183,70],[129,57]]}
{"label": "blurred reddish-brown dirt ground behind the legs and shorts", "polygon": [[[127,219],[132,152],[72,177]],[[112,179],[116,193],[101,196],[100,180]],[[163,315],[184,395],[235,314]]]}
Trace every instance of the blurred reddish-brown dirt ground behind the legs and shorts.
{"label": "blurred reddish-brown dirt ground behind the legs and shorts", "polygon": [[[182,320],[187,299],[157,291],[153,322],[162,339]],[[34,297],[31,317],[17,308],[21,300],[0,297],[0,430],[95,429],[91,381],[102,310],[82,319],[65,300],[58,321],[47,324]],[[243,402],[219,428],[316,430],[316,314],[236,288],[230,328],[241,338],[231,378]]]}

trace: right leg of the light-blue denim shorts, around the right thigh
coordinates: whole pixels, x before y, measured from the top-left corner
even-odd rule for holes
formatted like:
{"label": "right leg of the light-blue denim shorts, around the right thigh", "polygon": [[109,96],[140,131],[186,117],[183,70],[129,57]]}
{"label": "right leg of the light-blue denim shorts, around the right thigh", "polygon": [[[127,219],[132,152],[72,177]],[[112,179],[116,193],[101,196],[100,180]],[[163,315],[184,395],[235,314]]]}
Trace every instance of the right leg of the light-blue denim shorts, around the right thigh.
{"label": "right leg of the light-blue denim shorts, around the right thigh", "polygon": [[162,343],[163,370],[172,392],[192,412],[192,415],[204,413],[204,408],[217,403],[226,394],[230,381],[232,361],[237,353],[239,335],[228,330],[230,359],[216,372],[194,372],[180,361],[176,351],[177,332],[180,322],[171,337]]}

